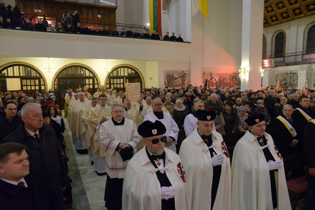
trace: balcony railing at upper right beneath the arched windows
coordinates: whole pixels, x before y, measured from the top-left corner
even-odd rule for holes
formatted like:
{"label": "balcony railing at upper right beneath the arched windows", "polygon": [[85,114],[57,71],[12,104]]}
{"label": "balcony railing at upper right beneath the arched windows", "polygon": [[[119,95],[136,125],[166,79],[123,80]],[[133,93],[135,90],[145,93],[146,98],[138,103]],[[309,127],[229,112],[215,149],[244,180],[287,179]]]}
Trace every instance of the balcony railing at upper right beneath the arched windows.
{"label": "balcony railing at upper right beneath the arched windows", "polygon": [[295,52],[284,55],[266,56],[265,59],[273,59],[274,66],[293,66],[315,63],[315,52]]}

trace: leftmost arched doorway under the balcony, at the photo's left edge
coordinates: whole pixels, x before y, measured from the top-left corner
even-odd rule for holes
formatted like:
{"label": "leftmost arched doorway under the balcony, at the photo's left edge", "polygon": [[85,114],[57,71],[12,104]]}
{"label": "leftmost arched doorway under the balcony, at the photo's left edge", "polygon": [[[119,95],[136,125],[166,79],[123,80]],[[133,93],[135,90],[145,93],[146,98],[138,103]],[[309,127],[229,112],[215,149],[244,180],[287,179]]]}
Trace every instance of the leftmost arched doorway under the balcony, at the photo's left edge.
{"label": "leftmost arched doorway under the balcony, at the photo's left edge", "polygon": [[27,96],[32,96],[36,91],[44,95],[45,80],[35,66],[27,63],[11,63],[0,69],[0,90],[3,93],[23,90]]}

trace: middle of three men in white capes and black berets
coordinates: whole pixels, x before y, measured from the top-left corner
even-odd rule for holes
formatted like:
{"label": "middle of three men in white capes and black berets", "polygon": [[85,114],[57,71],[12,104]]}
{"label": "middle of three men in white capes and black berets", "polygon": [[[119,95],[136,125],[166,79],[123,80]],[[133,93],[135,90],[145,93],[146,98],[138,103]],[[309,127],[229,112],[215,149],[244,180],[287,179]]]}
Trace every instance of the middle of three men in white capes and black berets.
{"label": "middle of three men in white capes and black berets", "polygon": [[231,210],[230,156],[221,134],[212,131],[216,112],[199,109],[196,115],[198,128],[179,151],[186,170],[190,209]]}

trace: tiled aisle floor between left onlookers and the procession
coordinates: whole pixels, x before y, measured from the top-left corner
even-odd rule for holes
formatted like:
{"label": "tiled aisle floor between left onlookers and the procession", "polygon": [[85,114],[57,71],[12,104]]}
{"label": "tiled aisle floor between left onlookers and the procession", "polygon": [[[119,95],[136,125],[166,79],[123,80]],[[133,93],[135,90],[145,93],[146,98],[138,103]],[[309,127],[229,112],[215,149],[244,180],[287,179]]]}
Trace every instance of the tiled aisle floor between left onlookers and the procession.
{"label": "tiled aisle floor between left onlookers and the procession", "polygon": [[78,154],[72,144],[71,131],[68,123],[64,132],[66,154],[69,159],[69,175],[72,179],[72,197],[77,210],[106,210],[104,191],[105,176],[97,176],[89,155]]}

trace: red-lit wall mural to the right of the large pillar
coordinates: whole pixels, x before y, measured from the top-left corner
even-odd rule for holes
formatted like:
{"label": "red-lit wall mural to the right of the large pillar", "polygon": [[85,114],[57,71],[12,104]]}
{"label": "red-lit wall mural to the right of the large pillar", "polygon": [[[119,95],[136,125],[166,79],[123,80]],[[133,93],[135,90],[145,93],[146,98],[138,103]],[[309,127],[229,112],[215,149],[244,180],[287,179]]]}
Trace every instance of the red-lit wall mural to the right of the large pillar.
{"label": "red-lit wall mural to the right of the large pillar", "polygon": [[231,79],[233,80],[233,85],[236,88],[240,88],[241,80],[239,78],[238,73],[211,73],[211,72],[203,72],[203,86],[205,85],[205,79],[208,79],[208,87],[216,87],[217,85],[220,87],[227,86],[229,87]]}

